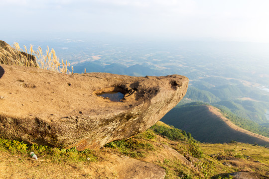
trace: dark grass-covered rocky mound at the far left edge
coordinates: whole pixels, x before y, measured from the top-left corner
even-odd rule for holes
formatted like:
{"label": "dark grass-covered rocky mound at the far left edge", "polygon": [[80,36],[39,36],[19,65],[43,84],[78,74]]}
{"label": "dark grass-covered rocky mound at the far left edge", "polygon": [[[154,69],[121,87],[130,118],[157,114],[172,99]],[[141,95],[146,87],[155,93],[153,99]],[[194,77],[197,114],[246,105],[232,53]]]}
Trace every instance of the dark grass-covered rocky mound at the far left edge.
{"label": "dark grass-covered rocky mound at the far left edge", "polygon": [[2,40],[0,40],[0,64],[37,66],[34,55],[18,51]]}

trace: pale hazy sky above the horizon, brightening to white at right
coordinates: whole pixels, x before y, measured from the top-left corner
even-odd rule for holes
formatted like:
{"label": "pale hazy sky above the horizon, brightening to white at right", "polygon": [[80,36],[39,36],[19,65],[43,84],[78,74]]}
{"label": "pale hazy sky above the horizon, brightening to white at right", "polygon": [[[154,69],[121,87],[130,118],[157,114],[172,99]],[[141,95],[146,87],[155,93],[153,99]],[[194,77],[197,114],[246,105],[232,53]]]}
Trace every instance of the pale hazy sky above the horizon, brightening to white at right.
{"label": "pale hazy sky above the horizon, brightening to white at right", "polygon": [[0,36],[269,42],[269,0],[0,0]]}

